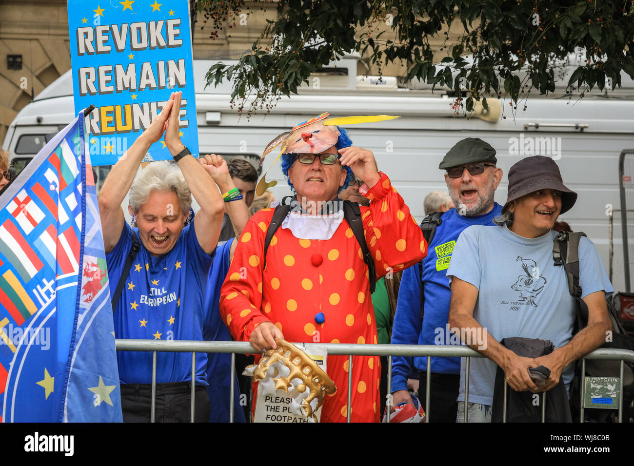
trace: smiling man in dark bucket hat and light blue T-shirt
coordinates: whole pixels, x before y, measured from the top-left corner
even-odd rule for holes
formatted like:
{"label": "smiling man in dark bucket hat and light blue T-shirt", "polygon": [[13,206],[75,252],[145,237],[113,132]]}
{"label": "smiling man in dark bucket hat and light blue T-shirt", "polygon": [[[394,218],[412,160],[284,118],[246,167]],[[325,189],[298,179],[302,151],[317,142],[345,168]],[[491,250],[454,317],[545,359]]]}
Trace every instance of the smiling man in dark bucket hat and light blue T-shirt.
{"label": "smiling man in dark bucket hat and light blue T-shirt", "polygon": [[[549,157],[527,157],[508,172],[508,199],[498,227],[470,226],[453,250],[447,276],[451,280],[450,327],[463,342],[488,359],[470,360],[470,422],[490,422],[496,365],[515,391],[548,391],[560,377],[569,389],[571,363],[600,346],[611,328],[605,296],[613,292],[598,252],[588,238],[579,242],[581,298],[588,305],[588,325],[573,338],[576,316],[564,268],[553,261],[551,228],[559,214],[571,209],[577,194],[562,183],[559,167]],[[469,341],[484,336],[484,344]],[[550,340],[553,353],[522,358],[503,347],[506,337]],[[538,389],[529,368],[546,366],[550,377]],[[460,370],[458,422],[465,399],[465,359]]]}

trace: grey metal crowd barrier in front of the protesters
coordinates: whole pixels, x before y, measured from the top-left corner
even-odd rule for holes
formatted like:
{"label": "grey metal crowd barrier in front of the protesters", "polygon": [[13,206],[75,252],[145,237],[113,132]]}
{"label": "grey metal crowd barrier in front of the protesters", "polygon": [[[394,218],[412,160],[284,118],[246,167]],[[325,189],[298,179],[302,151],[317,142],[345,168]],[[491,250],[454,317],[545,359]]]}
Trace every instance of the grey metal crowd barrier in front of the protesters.
{"label": "grey metal crowd barrier in front of the protesters", "polygon": [[[392,356],[441,356],[441,357],[458,357],[467,358],[465,361],[465,413],[464,422],[467,422],[469,411],[469,364],[471,358],[484,358],[482,354],[467,346],[458,345],[379,345],[379,344],[347,344],[347,343],[304,343],[306,351],[309,352],[311,347],[321,347],[328,351],[328,355],[348,356],[348,388],[352,385],[353,373],[353,356],[387,356],[387,393],[392,392]],[[230,386],[230,410],[229,422],[233,422],[234,408],[234,391],[235,391],[235,354],[258,354],[249,342],[225,342],[225,341],[191,341],[191,340],[132,340],[132,339],[116,339],[115,349],[117,351],[152,351],[152,415],[150,422],[154,422],[155,416],[155,397],[156,397],[156,364],[157,352],[167,353],[191,353],[191,422],[194,422],[194,406],[195,406],[195,389],[196,389],[196,353],[231,353],[231,386]],[[619,380],[619,422],[623,422],[623,361],[634,363],[634,351],[626,349],[595,349],[592,353],[586,354],[581,363],[581,380],[585,380],[586,359],[603,359],[612,361],[621,361],[620,364],[620,380]],[[429,377],[431,369],[431,359],[427,358],[427,390],[425,397],[425,415],[427,421],[430,420],[429,394],[430,382]],[[507,420],[507,387],[504,387],[504,408],[503,422]],[[583,422],[585,384],[581,384],[580,390],[581,408],[580,422]],[[541,402],[541,422],[545,422],[546,417],[546,393],[543,393]],[[351,406],[352,391],[348,389],[348,405]],[[391,409],[391,397],[387,398],[385,410],[389,412]],[[347,410],[347,422],[350,422],[351,409]],[[389,417],[388,417],[389,422]]]}

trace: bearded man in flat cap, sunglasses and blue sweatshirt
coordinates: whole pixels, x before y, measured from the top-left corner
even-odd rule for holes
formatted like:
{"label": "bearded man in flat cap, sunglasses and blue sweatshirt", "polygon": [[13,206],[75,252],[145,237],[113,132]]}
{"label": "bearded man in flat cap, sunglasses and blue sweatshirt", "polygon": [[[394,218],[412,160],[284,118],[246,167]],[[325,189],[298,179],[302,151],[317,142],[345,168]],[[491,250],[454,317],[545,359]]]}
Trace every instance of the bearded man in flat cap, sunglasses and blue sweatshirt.
{"label": "bearded man in flat cap, sunglasses and blue sweatshirt", "polygon": [[[446,170],[444,179],[456,208],[441,216],[441,223],[430,241],[430,254],[422,261],[422,271],[419,264],[403,271],[392,344],[450,344],[450,338],[444,336],[449,333],[444,330],[451,297],[445,274],[460,233],[471,225],[492,226],[493,219],[500,215],[501,206],[493,200],[502,179],[502,171],[496,163],[495,149],[479,138],[462,139],[444,156],[439,168]],[[392,358],[392,406],[412,402],[407,385],[408,377],[416,369],[420,373],[418,399],[425,403],[427,358]],[[460,358],[432,357],[430,379],[429,421],[453,422],[458,411]]]}

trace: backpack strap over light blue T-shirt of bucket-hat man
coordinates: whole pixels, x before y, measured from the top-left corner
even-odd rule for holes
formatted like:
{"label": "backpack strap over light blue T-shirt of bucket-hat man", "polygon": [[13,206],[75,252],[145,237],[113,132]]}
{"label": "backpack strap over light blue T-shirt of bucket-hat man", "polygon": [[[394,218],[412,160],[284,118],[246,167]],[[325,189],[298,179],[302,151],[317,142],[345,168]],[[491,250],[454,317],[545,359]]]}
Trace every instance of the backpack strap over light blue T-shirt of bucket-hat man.
{"label": "backpack strap over light blue T-shirt of bucket-hat man", "polygon": [[583,231],[560,231],[553,242],[553,261],[555,266],[562,265],[566,270],[568,292],[577,302],[578,330],[588,324],[588,305],[581,299],[581,285],[579,285],[579,241],[586,236]]}

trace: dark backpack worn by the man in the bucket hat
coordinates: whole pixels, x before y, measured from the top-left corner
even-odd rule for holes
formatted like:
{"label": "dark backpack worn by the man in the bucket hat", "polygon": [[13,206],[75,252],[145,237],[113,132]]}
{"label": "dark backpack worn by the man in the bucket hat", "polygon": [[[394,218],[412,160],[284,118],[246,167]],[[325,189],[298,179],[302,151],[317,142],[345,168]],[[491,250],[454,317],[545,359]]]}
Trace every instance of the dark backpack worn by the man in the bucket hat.
{"label": "dark backpack worn by the man in the bucket hat", "polygon": [[[573,296],[576,309],[576,321],[573,335],[588,325],[588,306],[581,299],[581,286],[579,285],[579,241],[583,232],[562,231],[553,242],[553,260],[555,266],[564,266],[568,282],[568,291]],[[600,346],[602,349],[627,349],[634,351],[634,338],[630,337],[621,325],[619,315],[609,299],[605,300],[607,314],[612,323],[611,341],[606,341]],[[619,377],[620,361],[586,359],[586,377]],[[570,403],[573,414],[573,422],[579,421],[580,407],[579,396],[583,380],[581,380],[581,359],[577,361],[575,375],[570,387]],[[623,361],[623,415],[634,399],[634,363]],[[585,422],[612,422],[617,410],[604,410],[588,408],[584,410]]]}

